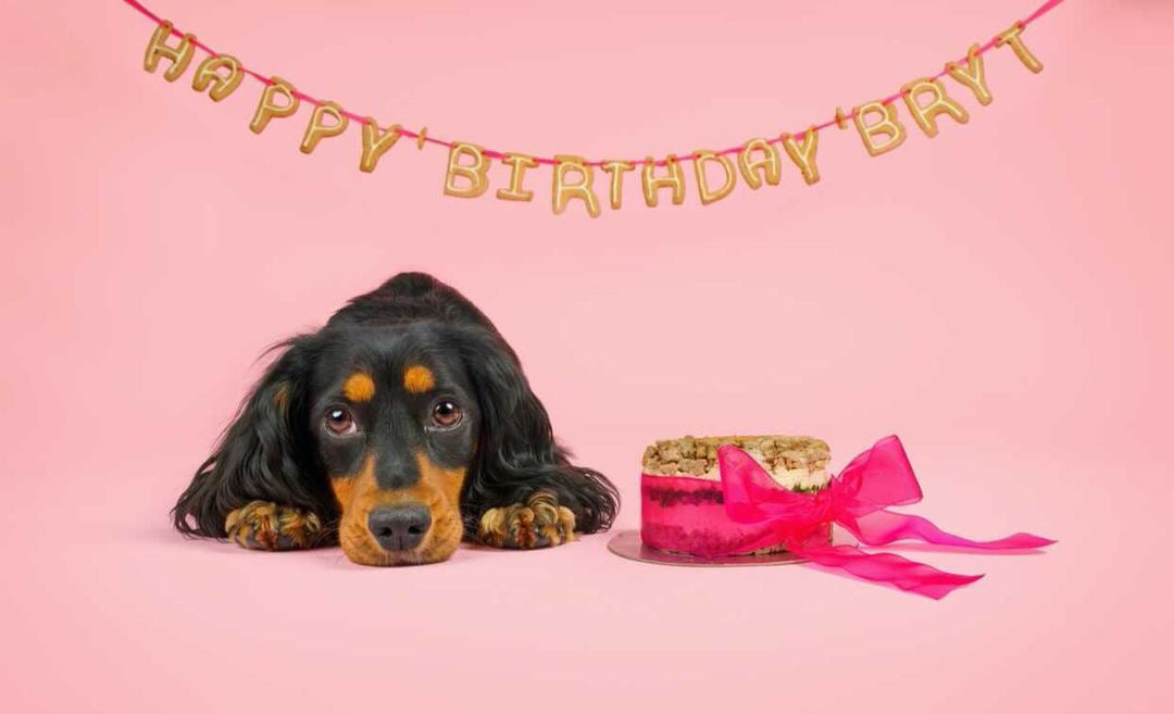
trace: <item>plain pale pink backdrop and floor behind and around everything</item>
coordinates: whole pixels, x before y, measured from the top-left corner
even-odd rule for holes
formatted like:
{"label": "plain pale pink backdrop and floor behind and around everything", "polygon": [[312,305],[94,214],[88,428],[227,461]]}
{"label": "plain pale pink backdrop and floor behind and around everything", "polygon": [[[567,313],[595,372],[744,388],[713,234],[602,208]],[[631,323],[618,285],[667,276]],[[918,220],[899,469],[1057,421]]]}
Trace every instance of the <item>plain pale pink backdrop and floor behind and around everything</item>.
{"label": "plain pale pink backdrop and floor behind and around everything", "polygon": [[[987,55],[994,102],[823,181],[589,221],[441,195],[404,141],[297,150],[141,68],[116,1],[6,4],[0,707],[8,712],[1152,712],[1172,703],[1174,13],[1067,2]],[[178,2],[212,47],[345,107],[544,155],[798,130],[1026,15],[987,2]],[[202,56],[202,55],[201,55]],[[903,112],[903,109],[902,109]],[[904,119],[908,115],[903,114]],[[504,173],[494,173],[498,188]],[[940,602],[809,567],[621,560],[608,536],[379,570],[189,543],[167,511],[271,342],[391,274],[451,282],[639,520],[646,443],[899,433],[918,512],[1045,554]],[[730,350],[718,331],[741,336]],[[407,709],[407,707],[412,707]],[[425,709],[426,707],[426,709]]]}

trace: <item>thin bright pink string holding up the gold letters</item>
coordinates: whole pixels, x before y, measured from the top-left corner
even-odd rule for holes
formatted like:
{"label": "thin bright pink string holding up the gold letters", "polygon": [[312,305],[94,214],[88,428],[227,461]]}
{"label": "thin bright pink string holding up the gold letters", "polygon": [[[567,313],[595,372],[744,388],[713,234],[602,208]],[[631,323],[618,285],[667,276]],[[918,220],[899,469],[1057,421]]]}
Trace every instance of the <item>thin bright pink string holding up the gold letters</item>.
{"label": "thin bright pink string holding up the gold letters", "polygon": [[[164,23],[164,20],[162,18],[160,18],[158,15],[156,15],[155,13],[153,13],[142,2],[139,2],[139,0],[123,0],[123,2],[126,2],[130,7],[135,8],[140,13],[142,13],[144,16],[147,16],[148,19],[150,19],[156,25],[163,25]],[[1058,5],[1060,5],[1062,2],[1064,2],[1064,0],[1047,0],[1047,2],[1045,2],[1044,5],[1041,5],[1038,8],[1035,8],[1035,11],[1033,13],[1031,13],[1030,15],[1027,15],[1026,18],[1024,18],[1023,20],[1019,20],[1017,22],[1017,25],[1020,27],[1020,29],[1026,28],[1028,25],[1031,25],[1032,22],[1034,22],[1035,20],[1038,20],[1039,18],[1041,18],[1043,15],[1045,15],[1046,13],[1051,12],[1052,9],[1054,9]],[[177,36],[177,38],[182,38],[184,33],[182,31],[173,27],[170,34],[174,35],[174,36]],[[191,42],[193,42],[193,45],[195,45],[196,47],[198,47],[201,50],[208,53],[211,56],[221,56],[221,54],[218,52],[216,52],[215,49],[212,49],[211,47],[209,47],[208,45],[201,42],[200,40],[197,40],[195,38],[191,39]],[[990,52],[992,48],[994,48],[997,46],[997,43],[998,43],[998,36],[991,38],[990,40],[987,40],[986,42],[983,42],[978,47],[978,50],[976,52],[976,54],[977,55],[981,55],[981,54],[984,54],[986,52]],[[964,62],[965,60],[966,60],[966,58],[962,58],[962,59],[958,60],[958,62]],[[264,74],[262,74],[259,72],[256,72],[254,69],[249,69],[247,67],[241,67],[241,69],[245,74],[248,74],[249,76],[251,76],[252,79],[262,82],[263,85],[268,86],[268,85],[272,85],[274,83],[272,80],[269,76],[266,76],[266,75],[264,75]],[[946,74],[947,74],[947,70],[946,69],[942,69],[937,74],[932,75],[930,79],[938,80],[938,79],[944,78]],[[295,90],[292,94],[295,96],[297,96],[299,100],[305,101],[305,102],[310,102],[310,103],[312,103],[315,106],[319,106],[319,105],[323,103],[322,100],[315,99],[313,96],[311,96],[309,94],[305,94],[304,92]],[[902,97],[902,95],[903,95],[902,92],[897,92],[897,93],[893,93],[893,94],[891,94],[891,95],[889,95],[889,96],[886,96],[886,97],[884,97],[882,100],[878,100],[878,101],[882,105],[890,105],[890,103],[899,100]],[[353,112],[349,112],[346,109],[343,109],[342,114],[344,114],[350,120],[357,121],[359,123],[364,123],[364,122],[367,121],[366,116],[360,115],[360,114],[356,114]],[[846,114],[843,114],[843,113],[841,113],[837,109],[836,116],[834,116],[832,119],[823,121],[823,122],[819,122],[819,123],[816,123],[816,124],[812,124],[809,128],[803,129],[801,132],[796,132],[794,134],[794,136],[795,136],[795,139],[802,141],[802,139],[807,134],[807,132],[821,132],[823,129],[826,129],[826,128],[830,128],[830,127],[835,127],[835,126],[841,126],[842,127],[843,123],[844,123],[844,121],[845,120],[851,120],[855,116],[855,114],[856,114],[856,109],[852,109],[851,112],[849,112]],[[407,139],[414,139],[417,142],[419,142],[419,144],[421,147],[425,143],[430,143],[430,144],[436,144],[436,146],[440,146],[440,147],[445,147],[445,148],[450,148],[451,149],[453,147],[453,144],[457,143],[457,142],[446,141],[446,140],[443,140],[443,139],[436,139],[433,136],[429,136],[426,128],[425,129],[420,129],[419,132],[413,132],[411,129],[398,127],[397,132],[399,133],[400,136],[405,136]],[[785,136],[785,135],[783,135],[783,136]],[[783,136],[777,136],[775,139],[769,139],[769,140],[765,140],[765,141],[769,144],[780,143],[780,142],[783,141]],[[738,154],[742,150],[743,150],[743,146],[736,146],[736,147],[730,147],[730,148],[727,148],[727,149],[722,149],[720,151],[714,151],[714,154],[716,154],[718,156],[726,156],[726,155],[731,155],[731,154]],[[483,154],[485,156],[490,157],[490,159],[504,159],[506,156],[505,151],[499,151],[499,150],[495,150],[495,149],[484,149]],[[681,153],[681,155],[677,159],[674,159],[674,160],[675,161],[691,161],[694,159],[696,159],[696,154],[695,153],[693,153],[693,151],[683,151],[683,153]],[[559,163],[559,161],[556,161],[555,159],[540,157],[540,156],[535,156],[534,161],[537,161],[540,164],[547,164],[547,166],[554,166],[554,164]],[[659,160],[654,160],[654,161],[648,161],[648,160],[645,160],[645,159],[627,160],[628,163],[632,163],[634,166],[645,166],[645,164],[652,163],[652,164],[657,166],[657,167],[667,166],[668,161],[669,161],[668,159],[659,159]],[[586,166],[589,166],[589,167],[602,167],[606,163],[606,161],[603,161],[603,160],[596,160],[596,161],[586,161],[583,163]]]}

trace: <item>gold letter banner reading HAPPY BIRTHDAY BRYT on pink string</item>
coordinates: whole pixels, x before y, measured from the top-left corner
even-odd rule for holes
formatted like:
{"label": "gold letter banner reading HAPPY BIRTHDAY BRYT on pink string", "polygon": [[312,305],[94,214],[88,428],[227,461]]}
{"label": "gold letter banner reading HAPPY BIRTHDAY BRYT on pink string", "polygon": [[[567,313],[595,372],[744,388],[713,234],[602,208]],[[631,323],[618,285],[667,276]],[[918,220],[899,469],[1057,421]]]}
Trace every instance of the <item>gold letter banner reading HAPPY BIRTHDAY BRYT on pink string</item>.
{"label": "gold letter banner reading HAPPY BIRTHDAY BRYT on pink string", "polygon": [[[964,124],[970,120],[970,113],[949,94],[942,80],[949,76],[957,83],[956,90],[970,93],[981,106],[990,105],[992,96],[986,83],[983,55],[991,49],[1006,47],[1024,67],[1033,73],[1040,72],[1044,67],[1027,48],[1023,33],[1040,15],[1062,2],[1045,2],[1034,13],[1016,21],[985,43],[972,45],[965,59],[946,62],[942,72],[932,76],[906,82],[899,92],[858,105],[846,114],[837,107],[832,119],[811,124],[796,134],[782,133],[775,137],[751,139],[720,151],[695,150],[688,155],[669,154],[660,159],[646,156],[643,160],[588,161],[571,154],[544,159],[519,151],[491,150],[465,141],[443,141],[429,136],[427,127],[412,132],[398,123],[380,126],[371,116],[353,114],[336,102],[317,100],[298,92],[279,76],[266,76],[247,69],[236,58],[211,50],[190,33],[180,33],[171,22],[160,19],[137,0],[124,1],[156,23],[143,56],[143,69],[147,72],[155,73],[160,61],[167,60],[163,79],[174,82],[188,70],[196,48],[200,48],[208,56],[191,73],[191,88],[208,92],[214,102],[236,92],[247,74],[262,83],[261,96],[249,121],[249,129],[255,134],[264,132],[275,119],[292,117],[305,103],[311,109],[302,135],[301,150],[304,154],[312,154],[324,139],[340,136],[353,121],[359,124],[360,171],[373,173],[384,154],[400,139],[407,137],[414,140],[418,149],[426,144],[448,149],[444,176],[446,196],[477,198],[485,195],[491,188],[490,170],[498,162],[504,168],[505,181],[494,195],[501,201],[528,202],[534,200],[534,191],[526,183],[528,171],[539,166],[549,166],[551,206],[554,213],[562,214],[574,203],[581,204],[593,218],[602,213],[601,195],[606,195],[612,210],[619,210],[623,206],[626,180],[634,178],[639,182],[641,197],[649,208],[659,206],[666,195],[673,204],[683,203],[687,171],[682,164],[686,162],[693,163],[693,183],[702,206],[729,196],[738,177],[753,190],[763,186],[778,186],[785,163],[794,164],[804,183],[811,186],[819,181],[816,151],[822,130],[831,127],[848,129],[851,126],[869,156],[880,156],[899,147],[909,134],[906,123],[898,115],[898,103],[905,107],[909,115],[906,122],[912,121],[931,139],[938,135],[938,121],[943,117]],[[173,38],[177,40],[173,41]],[[596,176],[596,170],[603,176]],[[628,174],[633,176],[628,178]],[[601,186],[596,186],[598,178]]]}

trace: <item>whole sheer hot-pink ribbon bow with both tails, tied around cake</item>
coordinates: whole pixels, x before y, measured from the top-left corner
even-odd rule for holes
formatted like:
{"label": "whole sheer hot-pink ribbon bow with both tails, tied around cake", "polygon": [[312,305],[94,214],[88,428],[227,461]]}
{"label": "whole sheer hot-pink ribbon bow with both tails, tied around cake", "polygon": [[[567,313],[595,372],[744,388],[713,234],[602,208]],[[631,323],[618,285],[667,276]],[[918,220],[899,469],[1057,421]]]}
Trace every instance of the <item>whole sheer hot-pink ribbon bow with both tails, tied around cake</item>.
{"label": "whole sheer hot-pink ribbon bow with both tails, tied around cake", "polygon": [[[893,553],[865,553],[853,545],[830,545],[819,524],[837,523],[864,545],[888,545],[916,539],[947,546],[1008,551],[1055,543],[1030,533],[998,540],[970,540],[937,527],[919,516],[888,511],[922,500],[922,489],[896,436],[877,442],[814,494],[780,486],[753,457],[726,444],[717,449],[726,514],[741,524],[767,526],[762,543],[782,543],[787,550],[819,565],[843,568],[869,580],[940,599],[983,575],[959,575],[915,563]],[[754,544],[751,544],[754,545]]]}

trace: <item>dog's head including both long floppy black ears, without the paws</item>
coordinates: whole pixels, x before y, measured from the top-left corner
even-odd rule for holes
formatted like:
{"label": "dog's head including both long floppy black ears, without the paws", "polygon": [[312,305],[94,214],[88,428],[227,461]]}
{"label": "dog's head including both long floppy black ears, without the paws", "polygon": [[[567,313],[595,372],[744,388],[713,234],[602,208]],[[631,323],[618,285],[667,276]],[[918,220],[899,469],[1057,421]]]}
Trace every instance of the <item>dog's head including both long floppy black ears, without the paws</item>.
{"label": "dog's head including both long floppy black ears, without the paws", "polygon": [[223,537],[225,513],[270,500],[322,514],[351,560],[397,565],[448,558],[479,500],[542,479],[585,528],[614,514],[497,335],[338,325],[284,348],[181,497],[181,531]]}

